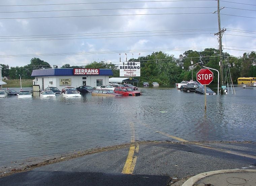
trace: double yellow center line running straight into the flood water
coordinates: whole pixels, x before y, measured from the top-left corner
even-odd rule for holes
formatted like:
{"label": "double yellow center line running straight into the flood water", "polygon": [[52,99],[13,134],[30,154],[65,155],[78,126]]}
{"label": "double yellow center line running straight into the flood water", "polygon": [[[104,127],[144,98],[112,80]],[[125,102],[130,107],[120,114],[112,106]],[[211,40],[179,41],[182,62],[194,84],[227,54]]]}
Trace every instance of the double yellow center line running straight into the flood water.
{"label": "double yellow center line running straight into the flood water", "polygon": [[[130,127],[131,127],[131,142],[135,142],[135,129],[134,129],[134,123],[130,123]],[[126,162],[124,164],[124,168],[122,173],[123,174],[132,174],[136,165],[136,161],[137,161],[137,156],[134,156],[134,152],[139,152],[139,145],[131,145],[129,152],[128,152],[128,156],[126,159]]]}

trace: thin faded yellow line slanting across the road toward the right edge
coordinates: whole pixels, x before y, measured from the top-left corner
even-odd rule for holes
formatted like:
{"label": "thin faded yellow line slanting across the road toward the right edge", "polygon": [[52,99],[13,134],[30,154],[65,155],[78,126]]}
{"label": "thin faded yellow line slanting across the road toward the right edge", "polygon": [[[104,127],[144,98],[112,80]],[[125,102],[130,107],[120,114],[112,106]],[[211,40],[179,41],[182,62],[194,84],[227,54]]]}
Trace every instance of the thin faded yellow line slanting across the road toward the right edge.
{"label": "thin faded yellow line slanting across the road toward the right edge", "polygon": [[[169,134],[161,132],[161,131],[156,131],[156,132],[160,133],[160,134],[163,134],[165,136],[168,136],[170,138],[177,139],[177,140],[182,141],[182,142],[189,142],[185,139],[182,139],[182,138],[179,138],[179,137],[176,137],[176,136],[172,136],[172,135],[169,135]],[[210,146],[203,145],[203,144],[196,143],[196,142],[190,142],[190,143],[198,145],[198,146],[203,147],[203,148],[207,148],[207,149],[217,150],[217,151],[221,151],[221,152],[225,152],[225,153],[229,153],[229,154],[234,154],[234,155],[237,155],[237,156],[244,156],[244,157],[247,157],[247,158],[256,159],[256,156],[250,155],[250,154],[245,154],[245,153],[231,151],[231,150],[225,150],[225,149],[222,149],[222,148],[210,147]]]}

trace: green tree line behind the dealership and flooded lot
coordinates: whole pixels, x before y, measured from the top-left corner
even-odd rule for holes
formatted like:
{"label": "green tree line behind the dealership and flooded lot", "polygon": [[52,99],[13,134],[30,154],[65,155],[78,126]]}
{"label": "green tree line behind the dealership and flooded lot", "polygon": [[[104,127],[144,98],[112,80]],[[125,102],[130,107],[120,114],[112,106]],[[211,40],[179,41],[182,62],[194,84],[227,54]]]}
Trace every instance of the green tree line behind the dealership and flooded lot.
{"label": "green tree line behind the dealership and flooded lot", "polygon": [[[174,58],[173,55],[168,55],[163,52],[153,52],[151,55],[141,56],[137,59],[129,59],[129,61],[140,62],[140,77],[135,77],[141,84],[143,81],[158,82],[159,84],[172,84],[180,82],[182,80],[192,79],[193,68],[193,80],[196,79],[196,73],[207,66],[220,71],[219,51],[213,48],[206,48],[201,52],[188,50],[184,52],[179,58]],[[256,53],[244,53],[243,57],[234,57],[228,53],[224,53],[222,57],[224,71],[223,76],[228,77],[231,74],[231,78],[234,83],[238,77],[256,77]],[[191,64],[193,61],[193,64]],[[10,67],[5,64],[3,66],[2,76],[7,76],[10,79],[19,79],[20,76],[23,79],[33,79],[31,77],[32,70],[52,68],[51,65],[39,58],[32,58],[30,64],[24,67]],[[192,66],[193,65],[193,66]],[[60,68],[101,68],[112,69],[113,76],[119,77],[119,67],[114,63],[106,62],[93,62],[85,66],[70,66],[65,64]],[[217,83],[218,75],[214,72],[213,83]]]}

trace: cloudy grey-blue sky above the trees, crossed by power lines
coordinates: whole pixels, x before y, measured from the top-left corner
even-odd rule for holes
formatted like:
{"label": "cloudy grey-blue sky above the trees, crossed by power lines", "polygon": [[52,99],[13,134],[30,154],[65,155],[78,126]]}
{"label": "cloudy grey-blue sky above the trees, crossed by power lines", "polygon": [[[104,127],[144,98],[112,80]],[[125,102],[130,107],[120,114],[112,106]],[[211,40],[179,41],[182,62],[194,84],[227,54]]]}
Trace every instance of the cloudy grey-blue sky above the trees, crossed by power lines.
{"label": "cloudy grey-blue sky above the trees, crossed by power lines", "polygon": [[[224,52],[256,51],[255,0],[220,0]],[[0,63],[119,63],[163,51],[218,49],[216,0],[9,0],[0,4]],[[119,55],[121,54],[121,55]],[[133,54],[133,55],[132,55]]]}

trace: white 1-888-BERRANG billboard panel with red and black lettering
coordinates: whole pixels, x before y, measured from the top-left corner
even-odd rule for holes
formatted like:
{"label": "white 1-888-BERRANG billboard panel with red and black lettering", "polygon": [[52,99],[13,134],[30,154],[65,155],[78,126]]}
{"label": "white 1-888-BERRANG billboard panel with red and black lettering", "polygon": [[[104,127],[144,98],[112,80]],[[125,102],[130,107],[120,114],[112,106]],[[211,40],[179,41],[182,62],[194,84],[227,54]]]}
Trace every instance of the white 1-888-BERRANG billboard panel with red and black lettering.
{"label": "white 1-888-BERRANG billboard panel with red and black lettering", "polygon": [[128,61],[120,64],[120,77],[140,77],[140,61]]}

